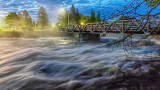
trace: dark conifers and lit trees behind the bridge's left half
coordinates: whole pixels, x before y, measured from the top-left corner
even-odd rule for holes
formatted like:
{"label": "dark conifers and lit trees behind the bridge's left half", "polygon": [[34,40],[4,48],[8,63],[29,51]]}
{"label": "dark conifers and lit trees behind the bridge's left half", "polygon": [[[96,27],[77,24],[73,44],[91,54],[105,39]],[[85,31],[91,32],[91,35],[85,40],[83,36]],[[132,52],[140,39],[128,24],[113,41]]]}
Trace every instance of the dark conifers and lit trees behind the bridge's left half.
{"label": "dark conifers and lit trees behind the bridge's left half", "polygon": [[101,15],[100,12],[95,14],[95,11],[92,9],[90,16],[85,16],[79,13],[79,9],[75,8],[72,4],[69,11],[65,10],[64,13],[59,15],[59,21],[57,25],[59,26],[67,26],[68,24],[86,24],[86,23],[94,23],[94,22],[101,22]]}

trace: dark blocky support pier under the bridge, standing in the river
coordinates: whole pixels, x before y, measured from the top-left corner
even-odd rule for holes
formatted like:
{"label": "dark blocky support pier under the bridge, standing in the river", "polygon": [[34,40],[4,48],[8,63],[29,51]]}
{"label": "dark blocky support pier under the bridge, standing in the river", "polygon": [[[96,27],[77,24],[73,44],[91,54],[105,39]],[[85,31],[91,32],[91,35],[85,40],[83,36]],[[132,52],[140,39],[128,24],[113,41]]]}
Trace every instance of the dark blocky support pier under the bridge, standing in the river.
{"label": "dark blocky support pier under the bridge, standing in the river", "polygon": [[79,33],[80,41],[100,41],[100,34],[95,33]]}

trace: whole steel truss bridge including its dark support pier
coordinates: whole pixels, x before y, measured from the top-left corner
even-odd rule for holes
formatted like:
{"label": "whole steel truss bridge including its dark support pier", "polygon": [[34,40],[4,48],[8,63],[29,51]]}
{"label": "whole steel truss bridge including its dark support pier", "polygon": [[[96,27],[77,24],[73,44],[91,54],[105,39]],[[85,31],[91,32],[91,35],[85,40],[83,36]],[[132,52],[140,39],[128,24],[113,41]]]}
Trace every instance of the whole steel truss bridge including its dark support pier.
{"label": "whole steel truss bridge including its dark support pier", "polygon": [[112,23],[88,23],[60,27],[60,31],[79,33],[82,40],[100,40],[107,33],[160,35],[160,21],[121,20]]}

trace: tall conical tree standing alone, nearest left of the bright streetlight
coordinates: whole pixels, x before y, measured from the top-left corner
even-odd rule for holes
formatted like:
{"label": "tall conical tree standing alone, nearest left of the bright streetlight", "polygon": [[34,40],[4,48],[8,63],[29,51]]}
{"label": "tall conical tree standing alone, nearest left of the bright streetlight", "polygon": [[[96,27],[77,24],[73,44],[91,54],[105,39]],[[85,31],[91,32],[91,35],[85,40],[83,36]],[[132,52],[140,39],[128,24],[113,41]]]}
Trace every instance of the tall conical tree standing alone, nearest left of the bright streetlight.
{"label": "tall conical tree standing alone, nearest left of the bright streetlight", "polygon": [[41,7],[38,13],[38,27],[45,28],[49,26],[48,14],[44,7]]}

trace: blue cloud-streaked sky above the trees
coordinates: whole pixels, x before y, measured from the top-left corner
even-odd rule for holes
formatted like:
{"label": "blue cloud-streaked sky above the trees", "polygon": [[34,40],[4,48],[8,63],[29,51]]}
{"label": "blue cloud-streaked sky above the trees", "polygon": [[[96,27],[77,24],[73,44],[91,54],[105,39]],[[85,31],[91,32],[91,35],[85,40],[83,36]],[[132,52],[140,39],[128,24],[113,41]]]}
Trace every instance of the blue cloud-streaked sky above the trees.
{"label": "blue cloud-streaked sky above the trees", "polygon": [[2,19],[9,12],[22,12],[27,10],[33,21],[37,19],[39,8],[43,6],[50,18],[50,23],[58,21],[60,8],[70,9],[74,4],[81,14],[90,15],[91,9],[103,14],[110,14],[116,9],[122,9],[130,0],[0,0],[0,18]]}

